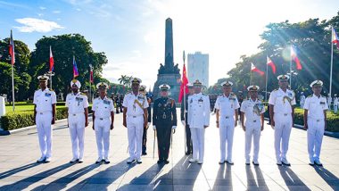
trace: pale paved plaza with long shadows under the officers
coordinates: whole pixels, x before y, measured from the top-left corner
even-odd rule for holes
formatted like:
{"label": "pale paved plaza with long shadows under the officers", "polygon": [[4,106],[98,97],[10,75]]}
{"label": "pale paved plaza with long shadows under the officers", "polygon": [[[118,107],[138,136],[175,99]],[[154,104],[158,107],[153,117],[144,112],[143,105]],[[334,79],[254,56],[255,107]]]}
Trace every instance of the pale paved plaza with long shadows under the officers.
{"label": "pale paved plaza with long shadows under the officers", "polygon": [[[178,110],[178,116],[179,115]],[[83,163],[70,164],[70,132],[66,121],[54,125],[53,161],[37,164],[40,157],[37,130],[0,137],[0,190],[339,190],[339,140],[324,137],[321,161],[308,164],[306,131],[293,129],[288,159],[291,167],[278,167],[273,130],[266,125],[260,139],[260,166],[244,164],[244,131],[234,138],[235,165],[219,165],[219,130],[215,115],[205,134],[203,165],[190,164],[184,154],[184,129],[178,129],[170,149],[170,163],[153,159],[153,129],[148,129],[147,155],[142,164],[128,165],[127,129],[122,114],[115,115],[111,131],[111,163],[95,164],[95,131],[86,129]]]}

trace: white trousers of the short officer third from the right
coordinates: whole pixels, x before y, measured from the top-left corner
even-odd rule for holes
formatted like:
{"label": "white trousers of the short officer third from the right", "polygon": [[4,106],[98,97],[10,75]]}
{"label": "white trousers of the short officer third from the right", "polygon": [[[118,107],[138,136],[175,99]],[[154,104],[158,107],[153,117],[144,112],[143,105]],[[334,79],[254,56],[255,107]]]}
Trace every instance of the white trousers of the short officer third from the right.
{"label": "white trousers of the short officer third from the right", "polygon": [[248,121],[245,123],[245,140],[244,140],[244,158],[250,161],[250,153],[253,139],[253,162],[258,162],[258,154],[260,148],[260,120]]}

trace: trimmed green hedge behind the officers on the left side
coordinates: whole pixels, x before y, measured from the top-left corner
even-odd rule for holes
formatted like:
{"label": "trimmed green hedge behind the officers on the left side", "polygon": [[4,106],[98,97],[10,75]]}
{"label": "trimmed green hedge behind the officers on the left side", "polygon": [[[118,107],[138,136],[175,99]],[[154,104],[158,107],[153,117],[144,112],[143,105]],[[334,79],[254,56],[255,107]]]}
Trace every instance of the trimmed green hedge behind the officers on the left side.
{"label": "trimmed green hedge behind the officers on the left side", "polygon": [[[56,109],[56,120],[62,120],[67,117],[67,108]],[[92,112],[92,106],[88,107],[88,112]],[[1,127],[4,130],[20,129],[29,127],[35,124],[34,112],[15,112],[7,113],[5,116],[0,118]]]}

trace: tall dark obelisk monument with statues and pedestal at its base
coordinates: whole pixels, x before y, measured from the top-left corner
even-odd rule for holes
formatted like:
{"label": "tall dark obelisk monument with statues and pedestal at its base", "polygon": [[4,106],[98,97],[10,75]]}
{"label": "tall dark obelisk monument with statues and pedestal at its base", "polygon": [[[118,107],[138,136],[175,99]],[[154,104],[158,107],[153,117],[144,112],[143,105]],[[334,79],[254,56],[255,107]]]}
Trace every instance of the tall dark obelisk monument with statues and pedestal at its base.
{"label": "tall dark obelisk monument with statues and pedestal at its base", "polygon": [[154,99],[160,97],[159,86],[161,84],[170,85],[170,97],[178,102],[178,95],[180,92],[180,70],[178,69],[178,63],[174,65],[173,62],[173,28],[172,20],[168,18],[166,20],[165,29],[165,63],[160,64],[158,70],[158,78],[154,83],[153,96]]}

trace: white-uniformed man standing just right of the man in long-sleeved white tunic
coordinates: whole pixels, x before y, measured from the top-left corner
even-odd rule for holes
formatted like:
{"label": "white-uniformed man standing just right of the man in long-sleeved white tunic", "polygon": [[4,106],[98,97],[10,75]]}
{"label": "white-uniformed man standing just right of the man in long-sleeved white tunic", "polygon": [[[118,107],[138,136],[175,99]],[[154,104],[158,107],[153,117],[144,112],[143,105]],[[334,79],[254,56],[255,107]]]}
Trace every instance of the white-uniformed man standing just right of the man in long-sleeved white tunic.
{"label": "white-uniformed man standing just right of the man in long-sleeved white tunic", "polygon": [[[233,95],[230,81],[224,81],[220,84],[224,94],[219,95],[215,103],[216,108],[216,123],[219,128],[220,137],[220,161],[219,164],[227,162],[233,164],[232,161],[232,147],[233,136],[235,132],[236,123],[238,120],[238,109],[240,107],[236,95]],[[227,155],[226,155],[227,144]]]}

